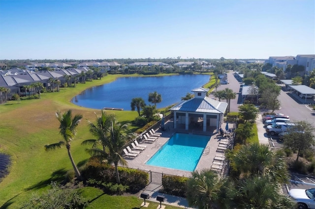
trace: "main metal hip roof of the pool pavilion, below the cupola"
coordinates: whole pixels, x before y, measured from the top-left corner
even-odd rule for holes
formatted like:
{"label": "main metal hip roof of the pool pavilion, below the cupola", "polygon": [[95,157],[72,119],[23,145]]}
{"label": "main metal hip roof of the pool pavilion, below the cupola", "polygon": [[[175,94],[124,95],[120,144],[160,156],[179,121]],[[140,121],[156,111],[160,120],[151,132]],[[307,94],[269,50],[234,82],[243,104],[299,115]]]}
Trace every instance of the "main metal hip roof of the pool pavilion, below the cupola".
{"label": "main metal hip roof of the pool pavilion, below the cupola", "polygon": [[208,97],[192,98],[176,104],[170,110],[185,111],[185,112],[200,112],[200,113],[224,113],[227,108],[227,103],[219,102]]}

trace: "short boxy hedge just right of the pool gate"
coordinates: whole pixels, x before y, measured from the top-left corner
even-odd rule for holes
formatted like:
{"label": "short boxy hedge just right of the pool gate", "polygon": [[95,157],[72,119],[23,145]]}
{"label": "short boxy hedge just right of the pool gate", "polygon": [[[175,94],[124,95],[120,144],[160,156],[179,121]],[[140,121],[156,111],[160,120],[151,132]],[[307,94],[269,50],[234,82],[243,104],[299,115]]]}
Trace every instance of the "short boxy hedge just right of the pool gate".
{"label": "short boxy hedge just right of the pool gate", "polygon": [[188,179],[187,177],[163,175],[163,192],[179,197],[186,197]]}

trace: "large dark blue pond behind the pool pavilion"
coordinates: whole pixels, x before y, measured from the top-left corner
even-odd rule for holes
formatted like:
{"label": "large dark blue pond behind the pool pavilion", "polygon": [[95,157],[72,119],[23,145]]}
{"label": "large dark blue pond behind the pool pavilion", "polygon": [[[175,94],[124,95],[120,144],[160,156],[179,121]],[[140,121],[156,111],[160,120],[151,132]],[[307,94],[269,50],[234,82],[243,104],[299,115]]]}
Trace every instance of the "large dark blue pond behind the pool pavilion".
{"label": "large dark blue pond behind the pool pavilion", "polygon": [[201,87],[209,79],[209,75],[118,78],[111,83],[85,90],[71,102],[94,109],[115,107],[131,110],[133,98],[141,97],[146,104],[151,104],[148,102],[149,93],[157,91],[162,97],[157,108],[162,108],[180,102],[188,92],[192,93],[192,89]]}

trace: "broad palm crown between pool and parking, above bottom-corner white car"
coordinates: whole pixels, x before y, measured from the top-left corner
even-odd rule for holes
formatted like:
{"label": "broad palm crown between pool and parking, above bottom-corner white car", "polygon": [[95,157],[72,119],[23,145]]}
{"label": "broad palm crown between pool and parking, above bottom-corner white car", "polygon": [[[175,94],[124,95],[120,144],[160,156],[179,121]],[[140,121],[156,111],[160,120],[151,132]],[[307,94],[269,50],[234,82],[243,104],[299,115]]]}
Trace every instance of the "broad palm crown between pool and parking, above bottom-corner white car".
{"label": "broad palm crown between pool and parking, above bottom-corner white car", "polygon": [[283,153],[273,152],[269,145],[251,143],[227,154],[237,178],[269,176],[274,182],[285,183],[289,179]]}

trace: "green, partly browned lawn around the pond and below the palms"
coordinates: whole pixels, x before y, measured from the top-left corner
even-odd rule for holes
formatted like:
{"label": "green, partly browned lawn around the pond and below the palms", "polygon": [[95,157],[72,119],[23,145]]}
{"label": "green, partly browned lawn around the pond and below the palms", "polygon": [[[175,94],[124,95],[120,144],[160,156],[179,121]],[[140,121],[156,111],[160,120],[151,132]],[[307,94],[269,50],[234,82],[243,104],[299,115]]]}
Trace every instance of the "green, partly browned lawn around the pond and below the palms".
{"label": "green, partly browned lawn around the pond and below the palms", "polygon": [[[86,120],[94,122],[95,113],[100,114],[100,110],[80,107],[70,103],[70,100],[89,87],[114,81],[118,77],[123,75],[108,75],[101,80],[79,83],[75,88],[61,88],[60,92],[41,94],[40,99],[21,98],[20,103],[8,101],[0,105],[0,153],[11,156],[9,175],[0,183],[1,208],[19,208],[21,203],[32,196],[32,193],[42,192],[49,188],[51,181],[62,181],[67,172],[72,173],[65,147],[50,152],[44,151],[45,144],[62,140],[59,135],[59,122],[55,116],[57,110],[63,112],[72,109],[73,114],[80,113],[84,116],[77,127],[77,136],[71,143],[74,161],[79,167],[84,166],[89,155],[81,142],[92,138]],[[138,115],[136,111],[108,110],[108,112],[114,113],[120,122],[132,121]],[[89,200],[95,199],[101,193],[95,188],[87,187],[83,190]],[[95,195],[89,196],[92,190]],[[114,205],[117,205],[117,202],[129,203],[127,207],[118,208],[130,209],[139,208],[139,203],[141,204],[141,200],[136,197],[101,195],[92,202],[91,207],[104,208],[108,205],[108,208],[113,209],[113,204],[108,204],[110,202]]]}

